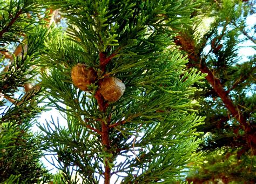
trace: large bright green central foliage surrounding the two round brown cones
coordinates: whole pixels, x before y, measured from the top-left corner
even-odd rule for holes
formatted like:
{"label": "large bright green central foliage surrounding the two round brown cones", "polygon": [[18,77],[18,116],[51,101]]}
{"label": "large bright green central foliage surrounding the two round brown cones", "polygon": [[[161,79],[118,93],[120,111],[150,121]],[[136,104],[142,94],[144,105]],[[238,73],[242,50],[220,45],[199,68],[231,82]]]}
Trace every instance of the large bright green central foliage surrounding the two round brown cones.
{"label": "large bright green central foliage surrounding the two round brown cones", "polygon": [[[68,122],[52,118],[42,144],[56,153],[65,181],[102,182],[106,168],[123,183],[170,183],[197,158],[198,117],[190,97],[203,79],[197,70],[184,71],[186,59],[169,50],[172,36],[190,23],[197,4],[191,1],[54,1],[68,18],[66,34],[50,37],[41,57],[45,95]],[[175,31],[170,29],[175,28]],[[111,57],[103,68],[101,55]],[[97,72],[91,91],[72,84],[71,69],[83,63]],[[124,95],[99,108],[100,81],[113,76],[126,86]],[[107,126],[106,146],[103,138]],[[101,132],[101,133],[100,133]],[[53,155],[54,156],[54,155]],[[120,159],[122,161],[120,161]],[[72,179],[76,175],[77,179]],[[117,182],[116,181],[116,182]],[[113,181],[114,182],[114,181]]]}

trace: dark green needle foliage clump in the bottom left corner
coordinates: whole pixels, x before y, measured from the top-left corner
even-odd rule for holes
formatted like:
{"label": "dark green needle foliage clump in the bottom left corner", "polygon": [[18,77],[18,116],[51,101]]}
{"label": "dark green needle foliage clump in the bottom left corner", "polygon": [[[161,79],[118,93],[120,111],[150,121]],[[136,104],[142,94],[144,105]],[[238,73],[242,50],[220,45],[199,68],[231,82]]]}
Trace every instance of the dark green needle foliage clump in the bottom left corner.
{"label": "dark green needle foliage clump in the bottom left corner", "polygon": [[0,182],[12,174],[19,175],[19,181],[24,183],[49,180],[48,171],[39,163],[41,145],[36,135],[30,132],[31,125],[26,120],[22,124],[9,122],[1,125]]}

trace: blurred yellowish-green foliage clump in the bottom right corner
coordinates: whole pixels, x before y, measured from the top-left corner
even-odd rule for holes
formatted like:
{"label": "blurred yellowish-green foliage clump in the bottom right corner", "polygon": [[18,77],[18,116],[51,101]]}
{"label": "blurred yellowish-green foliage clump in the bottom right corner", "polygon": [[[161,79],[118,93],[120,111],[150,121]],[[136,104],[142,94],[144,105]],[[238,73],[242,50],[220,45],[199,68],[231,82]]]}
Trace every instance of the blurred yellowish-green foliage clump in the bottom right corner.
{"label": "blurred yellowish-green foliage clump in the bottom right corner", "polygon": [[226,150],[214,151],[207,155],[202,165],[194,163],[199,167],[188,174],[187,181],[194,183],[219,180],[224,183],[255,182],[255,156],[244,154],[238,157],[237,152],[233,154],[228,152]]}

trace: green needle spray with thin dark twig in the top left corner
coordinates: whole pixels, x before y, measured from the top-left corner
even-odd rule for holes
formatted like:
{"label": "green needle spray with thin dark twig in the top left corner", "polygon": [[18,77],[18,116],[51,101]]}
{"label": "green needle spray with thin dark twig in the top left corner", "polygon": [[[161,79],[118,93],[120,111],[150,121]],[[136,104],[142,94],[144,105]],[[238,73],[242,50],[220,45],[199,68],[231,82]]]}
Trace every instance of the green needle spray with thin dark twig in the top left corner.
{"label": "green needle spray with thin dark twig in the top left corner", "polygon": [[0,50],[11,42],[19,42],[24,34],[35,26],[44,24],[42,18],[43,6],[30,0],[0,2]]}

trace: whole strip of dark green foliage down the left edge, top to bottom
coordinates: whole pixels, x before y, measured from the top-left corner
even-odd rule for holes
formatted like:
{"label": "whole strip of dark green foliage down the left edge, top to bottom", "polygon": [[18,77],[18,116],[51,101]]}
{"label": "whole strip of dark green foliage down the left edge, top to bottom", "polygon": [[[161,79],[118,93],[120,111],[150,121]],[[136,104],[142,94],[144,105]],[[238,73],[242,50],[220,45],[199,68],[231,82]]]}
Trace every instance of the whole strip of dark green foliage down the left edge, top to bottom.
{"label": "whole strip of dark green foliage down the left edge, top to bottom", "polygon": [[[38,57],[42,53],[48,29],[44,29],[43,6],[32,1],[1,1],[0,50],[13,47],[23,39],[22,53],[7,59],[1,54],[0,93],[0,182],[46,182],[50,175],[39,159],[42,158],[41,142],[33,135],[31,127],[44,107],[44,98],[36,81],[39,73]],[[37,28],[36,28],[37,26]],[[12,51],[11,51],[12,52]],[[1,52],[2,53],[2,52]],[[4,52],[3,52],[4,53]],[[6,64],[8,65],[8,64]],[[24,84],[36,85],[24,94]],[[15,99],[19,96],[18,99]],[[8,100],[10,101],[8,101]]]}

